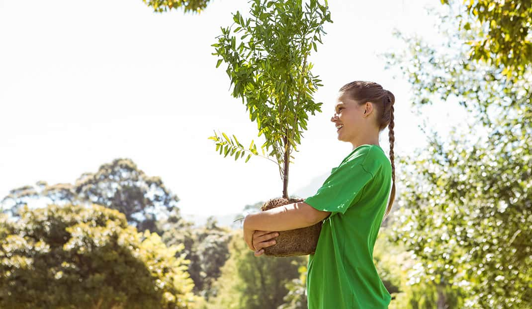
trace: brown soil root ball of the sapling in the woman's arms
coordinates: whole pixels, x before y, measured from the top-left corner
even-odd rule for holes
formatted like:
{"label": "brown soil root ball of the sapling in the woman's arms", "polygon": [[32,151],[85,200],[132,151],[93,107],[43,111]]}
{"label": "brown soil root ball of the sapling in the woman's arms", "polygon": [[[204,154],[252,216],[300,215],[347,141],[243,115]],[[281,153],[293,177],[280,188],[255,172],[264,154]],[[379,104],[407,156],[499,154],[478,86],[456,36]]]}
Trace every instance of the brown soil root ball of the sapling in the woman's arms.
{"label": "brown soil root ball of the sapling in the woman's arms", "polygon": [[[286,204],[303,202],[304,199],[296,198],[272,198],[262,205],[261,210],[266,211],[271,208],[279,207]],[[320,237],[321,221],[313,226],[289,230],[279,231],[279,236],[276,237],[276,244],[264,248],[264,254],[270,256],[295,256],[313,254],[318,245],[318,238]]]}

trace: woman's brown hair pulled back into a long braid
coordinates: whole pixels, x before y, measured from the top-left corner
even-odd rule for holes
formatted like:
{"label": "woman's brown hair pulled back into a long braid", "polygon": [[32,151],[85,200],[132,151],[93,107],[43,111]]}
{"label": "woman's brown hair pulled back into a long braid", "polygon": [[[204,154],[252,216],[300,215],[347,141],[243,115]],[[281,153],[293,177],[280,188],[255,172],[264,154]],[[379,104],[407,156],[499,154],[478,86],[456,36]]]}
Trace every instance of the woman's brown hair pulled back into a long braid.
{"label": "woman's brown hair pulled back into a long braid", "polygon": [[388,137],[390,140],[390,161],[392,162],[392,194],[390,195],[390,200],[388,202],[388,207],[386,208],[386,213],[384,218],[388,215],[390,210],[392,210],[392,205],[395,199],[395,163],[394,163],[394,103],[395,96],[388,90],[385,90],[376,82],[370,81],[353,81],[347,83],[342,88],[340,88],[344,94],[359,104],[364,104],[366,102],[371,102],[376,105],[378,112],[377,119],[379,121],[379,131],[384,130],[388,127]]}

